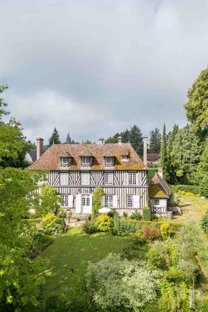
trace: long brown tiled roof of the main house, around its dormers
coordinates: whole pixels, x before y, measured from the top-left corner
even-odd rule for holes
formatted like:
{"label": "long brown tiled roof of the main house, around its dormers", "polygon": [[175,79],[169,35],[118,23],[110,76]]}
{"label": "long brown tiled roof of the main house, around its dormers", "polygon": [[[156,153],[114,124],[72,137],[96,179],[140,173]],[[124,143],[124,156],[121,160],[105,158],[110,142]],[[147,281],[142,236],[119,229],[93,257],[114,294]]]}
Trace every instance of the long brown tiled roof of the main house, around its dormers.
{"label": "long brown tiled roof of the main house, around its dormers", "polygon": [[[60,170],[60,159],[57,157],[62,153],[73,155],[68,170],[80,170],[80,155],[93,156],[92,166],[87,170],[104,170],[105,158],[109,151],[115,155],[114,170],[147,170],[135,150],[129,143],[122,144],[54,144],[42,156],[33,163],[29,169],[34,170]],[[128,159],[121,160],[121,156],[128,151]],[[108,168],[112,169],[112,168]],[[82,169],[83,170],[83,169]]]}

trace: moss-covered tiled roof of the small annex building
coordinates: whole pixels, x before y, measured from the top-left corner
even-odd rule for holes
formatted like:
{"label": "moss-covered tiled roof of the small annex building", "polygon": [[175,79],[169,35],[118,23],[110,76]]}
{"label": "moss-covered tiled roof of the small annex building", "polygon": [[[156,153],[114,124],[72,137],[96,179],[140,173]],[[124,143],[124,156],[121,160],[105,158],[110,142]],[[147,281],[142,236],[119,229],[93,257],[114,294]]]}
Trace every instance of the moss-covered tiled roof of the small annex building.
{"label": "moss-covered tiled roof of the small annex building", "polygon": [[149,189],[150,197],[169,198],[171,195],[171,187],[161,178],[159,173],[156,173],[152,178]]}

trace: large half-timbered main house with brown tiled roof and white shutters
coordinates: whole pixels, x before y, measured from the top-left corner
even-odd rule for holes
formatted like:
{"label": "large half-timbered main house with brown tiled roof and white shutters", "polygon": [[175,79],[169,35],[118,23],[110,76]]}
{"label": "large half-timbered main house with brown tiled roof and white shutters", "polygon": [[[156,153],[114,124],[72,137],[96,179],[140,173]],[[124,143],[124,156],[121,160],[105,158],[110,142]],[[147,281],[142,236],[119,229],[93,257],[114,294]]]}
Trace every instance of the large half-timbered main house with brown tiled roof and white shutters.
{"label": "large half-timbered main house with brown tiled roof and white shutters", "polygon": [[[147,167],[131,144],[55,144],[30,167],[47,170],[47,185],[64,199],[63,207],[92,213],[92,194],[104,191],[102,207],[120,213],[142,209],[148,201]],[[37,192],[40,193],[40,184]]]}

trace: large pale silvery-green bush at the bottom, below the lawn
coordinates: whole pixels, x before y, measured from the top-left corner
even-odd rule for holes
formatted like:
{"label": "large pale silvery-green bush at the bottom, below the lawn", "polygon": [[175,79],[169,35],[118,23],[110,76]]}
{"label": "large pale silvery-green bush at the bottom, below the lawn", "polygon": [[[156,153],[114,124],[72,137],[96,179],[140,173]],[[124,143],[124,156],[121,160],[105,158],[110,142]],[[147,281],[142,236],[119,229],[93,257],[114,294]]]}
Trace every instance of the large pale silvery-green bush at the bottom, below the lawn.
{"label": "large pale silvery-green bush at the bottom, below the lawn", "polygon": [[97,263],[89,261],[86,280],[87,289],[94,290],[93,301],[104,311],[138,311],[156,299],[159,283],[157,271],[112,253]]}

